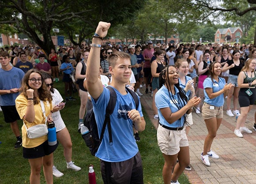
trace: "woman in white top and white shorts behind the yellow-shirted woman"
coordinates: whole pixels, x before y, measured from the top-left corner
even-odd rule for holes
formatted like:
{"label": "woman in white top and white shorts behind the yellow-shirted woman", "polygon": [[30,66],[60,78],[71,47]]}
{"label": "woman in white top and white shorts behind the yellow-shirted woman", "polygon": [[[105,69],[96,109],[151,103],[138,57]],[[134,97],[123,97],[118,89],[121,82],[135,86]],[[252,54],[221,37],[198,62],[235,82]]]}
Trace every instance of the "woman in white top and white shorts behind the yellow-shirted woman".
{"label": "woman in white top and white shorts behind the yellow-shirted woman", "polygon": [[[60,115],[60,110],[64,109],[65,102],[62,102],[63,98],[61,97],[60,92],[53,88],[53,77],[46,73],[42,73],[42,76],[44,79],[44,83],[47,87],[47,90],[51,92],[51,95],[53,97],[53,108],[51,110],[51,113],[56,127],[57,139],[60,141],[61,145],[64,148],[64,157],[67,162],[67,168],[72,169],[74,171],[79,171],[81,170],[81,168],[76,166],[72,162],[71,137]],[[53,176],[61,177],[63,175],[64,174],[61,173],[58,169],[56,169],[55,165],[53,165]]]}

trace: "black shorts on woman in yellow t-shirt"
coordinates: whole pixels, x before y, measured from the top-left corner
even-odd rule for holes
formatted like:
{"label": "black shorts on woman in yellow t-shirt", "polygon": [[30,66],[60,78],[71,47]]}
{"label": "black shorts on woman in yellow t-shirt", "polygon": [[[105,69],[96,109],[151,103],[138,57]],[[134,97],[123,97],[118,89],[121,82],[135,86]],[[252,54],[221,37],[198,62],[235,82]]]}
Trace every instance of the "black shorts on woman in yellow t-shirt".
{"label": "black shorts on woman in yellow t-shirt", "polygon": [[53,153],[53,151],[56,150],[58,145],[59,145],[59,142],[57,141],[56,145],[49,146],[48,140],[47,140],[41,145],[36,146],[34,148],[23,147],[23,157],[28,159],[44,157],[45,155],[49,155]]}

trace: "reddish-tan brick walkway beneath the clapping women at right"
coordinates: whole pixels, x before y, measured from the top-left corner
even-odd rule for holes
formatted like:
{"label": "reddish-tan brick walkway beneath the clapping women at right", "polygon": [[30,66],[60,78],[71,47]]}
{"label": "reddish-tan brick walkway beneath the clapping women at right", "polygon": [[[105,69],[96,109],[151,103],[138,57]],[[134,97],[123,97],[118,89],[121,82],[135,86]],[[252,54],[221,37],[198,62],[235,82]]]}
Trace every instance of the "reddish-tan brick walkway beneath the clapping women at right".
{"label": "reddish-tan brick walkway beneath the clapping women at right", "polygon": [[[140,89],[141,93],[144,91],[144,88]],[[154,127],[157,128],[158,121],[154,120],[151,110],[151,95],[144,94],[140,100]],[[255,111],[256,105],[246,120],[245,126],[250,130],[254,124]],[[184,173],[191,184],[256,184],[256,131],[252,130],[252,134],[243,133],[244,138],[238,138],[233,133],[235,117],[226,115],[226,100],[223,114],[222,124],[211,146],[220,158],[209,158],[211,166],[207,167],[200,159],[204,139],[208,133],[207,128],[201,115],[193,112],[194,124],[188,135],[192,170]]]}

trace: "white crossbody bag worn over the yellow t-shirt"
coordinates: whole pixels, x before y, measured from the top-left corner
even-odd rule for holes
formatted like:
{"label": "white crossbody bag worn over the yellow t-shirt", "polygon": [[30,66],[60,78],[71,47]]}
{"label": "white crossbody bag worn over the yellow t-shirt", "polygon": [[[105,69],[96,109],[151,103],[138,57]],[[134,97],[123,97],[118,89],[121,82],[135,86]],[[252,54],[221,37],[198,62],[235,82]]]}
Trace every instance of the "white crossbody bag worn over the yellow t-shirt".
{"label": "white crossbody bag worn over the yellow t-shirt", "polygon": [[26,128],[26,135],[30,139],[39,138],[39,137],[42,137],[42,136],[48,134],[48,128],[47,128],[47,125],[46,125],[47,117],[45,116],[45,105],[44,105],[44,102],[41,101],[41,100],[40,100],[40,103],[41,103],[41,108],[42,108],[42,111],[43,111],[43,114],[44,114],[44,117],[45,117],[45,124],[37,124],[37,125],[34,125],[30,128],[27,128],[26,124],[23,121],[23,124]]}

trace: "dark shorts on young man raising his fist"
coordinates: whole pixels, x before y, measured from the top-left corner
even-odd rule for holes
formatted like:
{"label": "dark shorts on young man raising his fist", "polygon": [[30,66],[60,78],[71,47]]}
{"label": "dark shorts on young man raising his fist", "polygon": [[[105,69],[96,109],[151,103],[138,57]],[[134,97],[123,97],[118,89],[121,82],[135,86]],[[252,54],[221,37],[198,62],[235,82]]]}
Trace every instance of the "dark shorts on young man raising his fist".
{"label": "dark shorts on young man raising his fist", "polygon": [[104,184],[143,184],[143,167],[139,152],[126,161],[101,160],[101,172]]}

